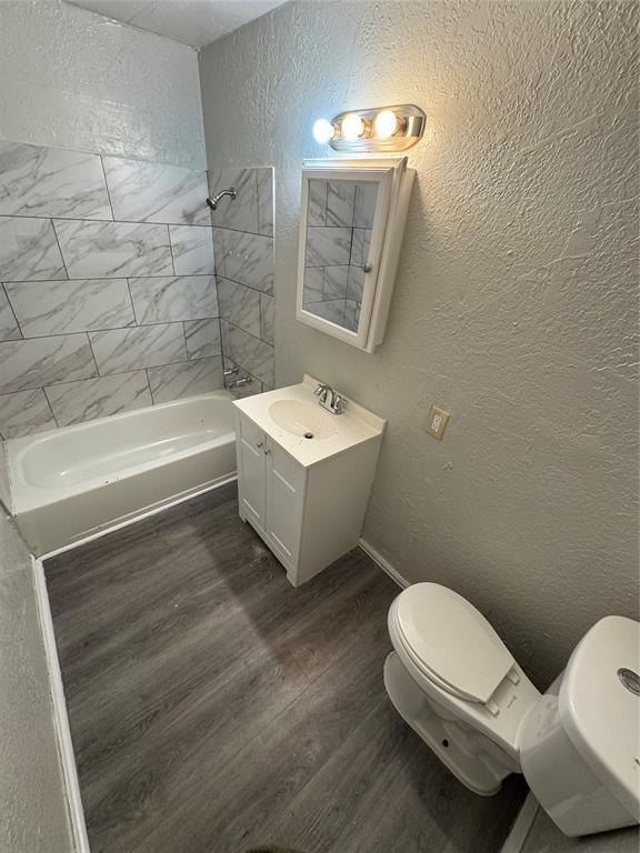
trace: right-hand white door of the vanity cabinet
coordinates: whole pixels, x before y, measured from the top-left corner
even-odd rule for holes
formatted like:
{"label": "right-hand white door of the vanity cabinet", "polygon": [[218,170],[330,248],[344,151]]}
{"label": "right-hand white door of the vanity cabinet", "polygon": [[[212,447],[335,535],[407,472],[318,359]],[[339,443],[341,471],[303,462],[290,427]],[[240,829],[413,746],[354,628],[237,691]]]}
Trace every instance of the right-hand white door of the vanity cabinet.
{"label": "right-hand white door of the vanity cabinet", "polygon": [[267,439],[267,535],[288,569],[298,564],[306,471]]}

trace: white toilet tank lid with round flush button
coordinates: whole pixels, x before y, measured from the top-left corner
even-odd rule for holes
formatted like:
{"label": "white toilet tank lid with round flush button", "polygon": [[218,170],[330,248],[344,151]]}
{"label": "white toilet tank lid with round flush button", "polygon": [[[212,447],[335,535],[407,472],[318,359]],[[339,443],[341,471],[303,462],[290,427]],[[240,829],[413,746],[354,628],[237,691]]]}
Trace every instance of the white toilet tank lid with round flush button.
{"label": "white toilet tank lid with round flush button", "polygon": [[573,650],[560,685],[564,731],[640,821],[640,623],[606,616]]}

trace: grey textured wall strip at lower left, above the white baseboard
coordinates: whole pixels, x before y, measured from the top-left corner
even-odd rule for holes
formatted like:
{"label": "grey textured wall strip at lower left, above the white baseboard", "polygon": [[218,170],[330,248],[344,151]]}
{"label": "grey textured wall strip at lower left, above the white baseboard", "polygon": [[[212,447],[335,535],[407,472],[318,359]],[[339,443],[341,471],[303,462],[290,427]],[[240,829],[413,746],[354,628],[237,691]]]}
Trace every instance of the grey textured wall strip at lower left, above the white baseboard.
{"label": "grey textured wall strip at lower left, above the white baseboard", "polygon": [[72,849],[31,560],[0,506],[0,850]]}

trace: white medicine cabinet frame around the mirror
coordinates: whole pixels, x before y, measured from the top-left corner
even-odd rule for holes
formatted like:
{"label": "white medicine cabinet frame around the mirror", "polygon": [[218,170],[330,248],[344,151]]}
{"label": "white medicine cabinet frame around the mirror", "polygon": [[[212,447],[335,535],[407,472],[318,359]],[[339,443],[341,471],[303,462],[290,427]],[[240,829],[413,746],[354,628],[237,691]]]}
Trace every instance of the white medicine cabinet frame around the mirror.
{"label": "white medicine cabinet frame around the mirror", "polygon": [[[384,338],[416,177],[416,171],[407,163],[406,157],[303,161],[296,318],[364,352],[373,352]],[[310,181],[374,182],[378,185],[368,258],[362,262],[362,301],[354,331],[304,308]]]}

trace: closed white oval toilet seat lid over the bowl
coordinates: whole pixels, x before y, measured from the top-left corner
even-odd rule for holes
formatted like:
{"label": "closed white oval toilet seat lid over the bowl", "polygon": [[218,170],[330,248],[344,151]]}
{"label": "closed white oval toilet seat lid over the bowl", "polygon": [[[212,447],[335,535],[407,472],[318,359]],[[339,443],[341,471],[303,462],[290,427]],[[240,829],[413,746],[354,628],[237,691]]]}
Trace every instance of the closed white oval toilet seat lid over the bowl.
{"label": "closed white oval toilet seat lid over the bowl", "polygon": [[488,702],[514,661],[484,616],[438,583],[416,583],[396,604],[399,633],[421,669],[453,693]]}

